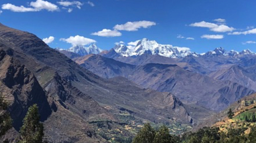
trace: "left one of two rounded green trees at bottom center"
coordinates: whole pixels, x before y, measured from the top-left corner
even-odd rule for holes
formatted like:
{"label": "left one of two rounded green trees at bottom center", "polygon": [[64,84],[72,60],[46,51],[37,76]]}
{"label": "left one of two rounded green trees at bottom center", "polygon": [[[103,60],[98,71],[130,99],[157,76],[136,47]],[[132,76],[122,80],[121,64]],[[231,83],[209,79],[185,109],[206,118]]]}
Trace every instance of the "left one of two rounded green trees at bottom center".
{"label": "left one of two rounded green trees at bottom center", "polygon": [[137,136],[134,137],[133,143],[152,143],[154,138],[155,129],[151,127],[150,123],[146,123]]}

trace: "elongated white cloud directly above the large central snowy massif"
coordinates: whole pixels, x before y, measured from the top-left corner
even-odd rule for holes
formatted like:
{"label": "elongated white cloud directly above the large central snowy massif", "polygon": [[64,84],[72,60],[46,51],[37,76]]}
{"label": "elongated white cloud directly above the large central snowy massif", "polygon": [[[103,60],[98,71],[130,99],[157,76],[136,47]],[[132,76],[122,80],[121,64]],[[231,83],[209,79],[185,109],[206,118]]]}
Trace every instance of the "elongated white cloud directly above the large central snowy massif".
{"label": "elongated white cloud directly above the large central snowy massif", "polygon": [[153,25],[156,25],[153,21],[134,21],[134,22],[127,22],[121,25],[115,25],[114,29],[119,31],[138,31],[139,28],[149,28]]}

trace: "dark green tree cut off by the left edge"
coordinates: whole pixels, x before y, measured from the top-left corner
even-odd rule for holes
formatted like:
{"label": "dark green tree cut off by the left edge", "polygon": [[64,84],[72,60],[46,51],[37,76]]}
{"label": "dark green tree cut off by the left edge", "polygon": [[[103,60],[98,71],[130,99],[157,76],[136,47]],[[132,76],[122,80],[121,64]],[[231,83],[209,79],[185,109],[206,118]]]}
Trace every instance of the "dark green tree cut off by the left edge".
{"label": "dark green tree cut off by the left edge", "polygon": [[5,101],[2,94],[0,94],[0,139],[12,127],[12,120],[10,114],[6,111],[8,103]]}

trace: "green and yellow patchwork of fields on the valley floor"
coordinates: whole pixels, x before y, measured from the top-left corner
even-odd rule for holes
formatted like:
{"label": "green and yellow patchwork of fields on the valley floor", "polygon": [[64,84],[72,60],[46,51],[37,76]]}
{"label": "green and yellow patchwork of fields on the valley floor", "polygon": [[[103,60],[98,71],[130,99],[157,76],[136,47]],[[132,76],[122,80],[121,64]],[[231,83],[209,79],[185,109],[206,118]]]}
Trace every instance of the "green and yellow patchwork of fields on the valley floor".
{"label": "green and yellow patchwork of fields on the valley floor", "polygon": [[[149,121],[135,118],[128,111],[120,111],[117,115],[119,122],[109,120],[96,120],[90,122],[96,130],[96,133],[112,143],[131,142],[136,133],[143,127],[143,124]],[[161,123],[150,122],[152,127],[158,128]],[[188,124],[181,123],[164,123],[170,129],[170,133],[181,135],[190,131],[192,127]]]}

